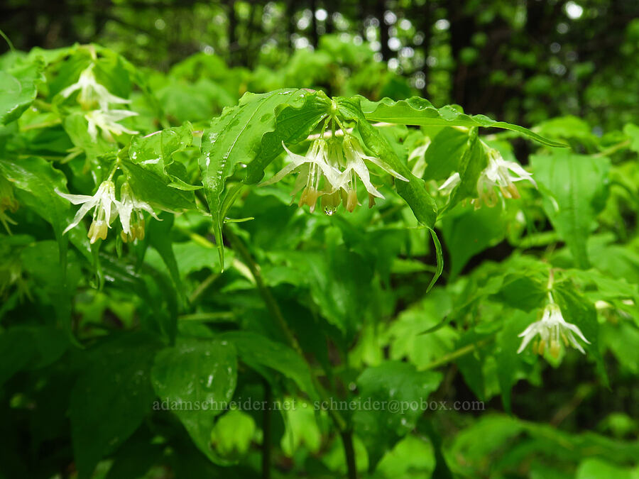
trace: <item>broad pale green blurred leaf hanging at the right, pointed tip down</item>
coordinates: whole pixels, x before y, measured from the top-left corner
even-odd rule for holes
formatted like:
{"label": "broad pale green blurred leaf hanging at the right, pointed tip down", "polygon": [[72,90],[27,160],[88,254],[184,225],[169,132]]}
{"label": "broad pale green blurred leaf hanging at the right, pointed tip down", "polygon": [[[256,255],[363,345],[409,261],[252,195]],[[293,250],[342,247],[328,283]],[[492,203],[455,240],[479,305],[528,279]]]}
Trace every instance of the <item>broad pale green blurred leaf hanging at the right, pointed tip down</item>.
{"label": "broad pale green blurred leaf hanging at the right, pointed tip down", "polygon": [[577,266],[589,268],[586,241],[606,204],[610,160],[561,150],[552,156],[533,155],[531,162],[552,226]]}

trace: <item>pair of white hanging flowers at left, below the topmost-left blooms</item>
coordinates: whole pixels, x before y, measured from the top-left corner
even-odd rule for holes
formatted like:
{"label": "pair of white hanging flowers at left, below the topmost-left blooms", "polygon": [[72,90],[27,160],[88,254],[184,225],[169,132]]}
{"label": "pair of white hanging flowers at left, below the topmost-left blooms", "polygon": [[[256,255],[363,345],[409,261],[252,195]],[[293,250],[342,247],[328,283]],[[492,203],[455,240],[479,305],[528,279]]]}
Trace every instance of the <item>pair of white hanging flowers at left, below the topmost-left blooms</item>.
{"label": "pair of white hanging flowers at left, below the topmost-left blooms", "polygon": [[155,211],[146,202],[138,199],[129,183],[124,182],[120,189],[120,200],[115,196],[115,185],[111,180],[102,182],[97,192],[93,196],[86,194],[67,194],[55,190],[62,198],[68,199],[72,204],[82,204],[77,210],[73,221],[67,226],[63,233],[75,228],[82,218],[93,210],[93,221],[89,226],[87,235],[91,244],[98,239],[107,239],[107,233],[111,228],[111,223],[118,216],[122,225],[121,238],[125,243],[136,239],[144,239],[144,216],[143,211],[147,211],[153,218],[158,219]]}

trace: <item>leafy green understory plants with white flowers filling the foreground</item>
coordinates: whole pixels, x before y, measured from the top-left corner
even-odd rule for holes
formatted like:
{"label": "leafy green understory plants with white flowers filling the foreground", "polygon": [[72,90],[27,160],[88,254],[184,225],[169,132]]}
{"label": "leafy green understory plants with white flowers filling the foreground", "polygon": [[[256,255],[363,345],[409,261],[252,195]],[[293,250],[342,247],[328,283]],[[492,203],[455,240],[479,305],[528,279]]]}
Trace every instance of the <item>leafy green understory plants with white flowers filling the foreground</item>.
{"label": "leafy green understory plants with white flowers filling the foreground", "polygon": [[637,473],[638,126],[0,65],[6,477]]}

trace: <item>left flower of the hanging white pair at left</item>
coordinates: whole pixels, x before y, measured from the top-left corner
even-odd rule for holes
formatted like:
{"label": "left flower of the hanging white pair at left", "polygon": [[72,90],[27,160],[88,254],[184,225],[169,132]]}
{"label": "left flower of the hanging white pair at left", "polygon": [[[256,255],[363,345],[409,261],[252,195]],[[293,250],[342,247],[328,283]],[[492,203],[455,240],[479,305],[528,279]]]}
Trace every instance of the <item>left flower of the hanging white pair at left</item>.
{"label": "left flower of the hanging white pair at left", "polygon": [[98,238],[107,239],[107,231],[111,228],[111,221],[117,216],[116,205],[118,203],[115,198],[115,185],[111,180],[100,183],[96,194],[92,197],[87,194],[62,193],[58,189],[56,189],[55,192],[73,204],[82,204],[82,207],[77,210],[71,224],[62,232],[63,234],[77,226],[77,224],[82,221],[82,218],[84,218],[84,215],[86,215],[89,210],[94,209],[93,222],[91,226],[89,226],[89,234],[87,236],[90,238],[92,244],[95,243]]}

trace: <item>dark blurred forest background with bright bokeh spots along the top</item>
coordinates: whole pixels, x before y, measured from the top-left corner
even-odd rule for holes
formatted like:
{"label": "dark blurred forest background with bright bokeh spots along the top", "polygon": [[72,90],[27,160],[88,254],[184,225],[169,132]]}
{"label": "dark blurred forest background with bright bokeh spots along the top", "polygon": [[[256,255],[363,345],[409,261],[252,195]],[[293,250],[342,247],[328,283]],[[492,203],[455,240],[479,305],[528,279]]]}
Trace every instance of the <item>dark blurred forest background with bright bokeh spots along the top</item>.
{"label": "dark blurred forest background with bright bokeh spots along the top", "polygon": [[[9,0],[0,6],[0,28],[21,50],[94,41],[163,71],[204,53],[240,72],[251,69],[258,80],[262,75],[261,82],[244,84],[253,91],[279,87],[264,81],[275,70],[287,86],[373,99],[420,94],[436,106],[456,103],[525,125],[574,114],[595,133],[639,116],[638,17],[635,0]],[[371,63],[378,63],[375,74]],[[336,88],[358,72],[363,78],[349,91]]]}

